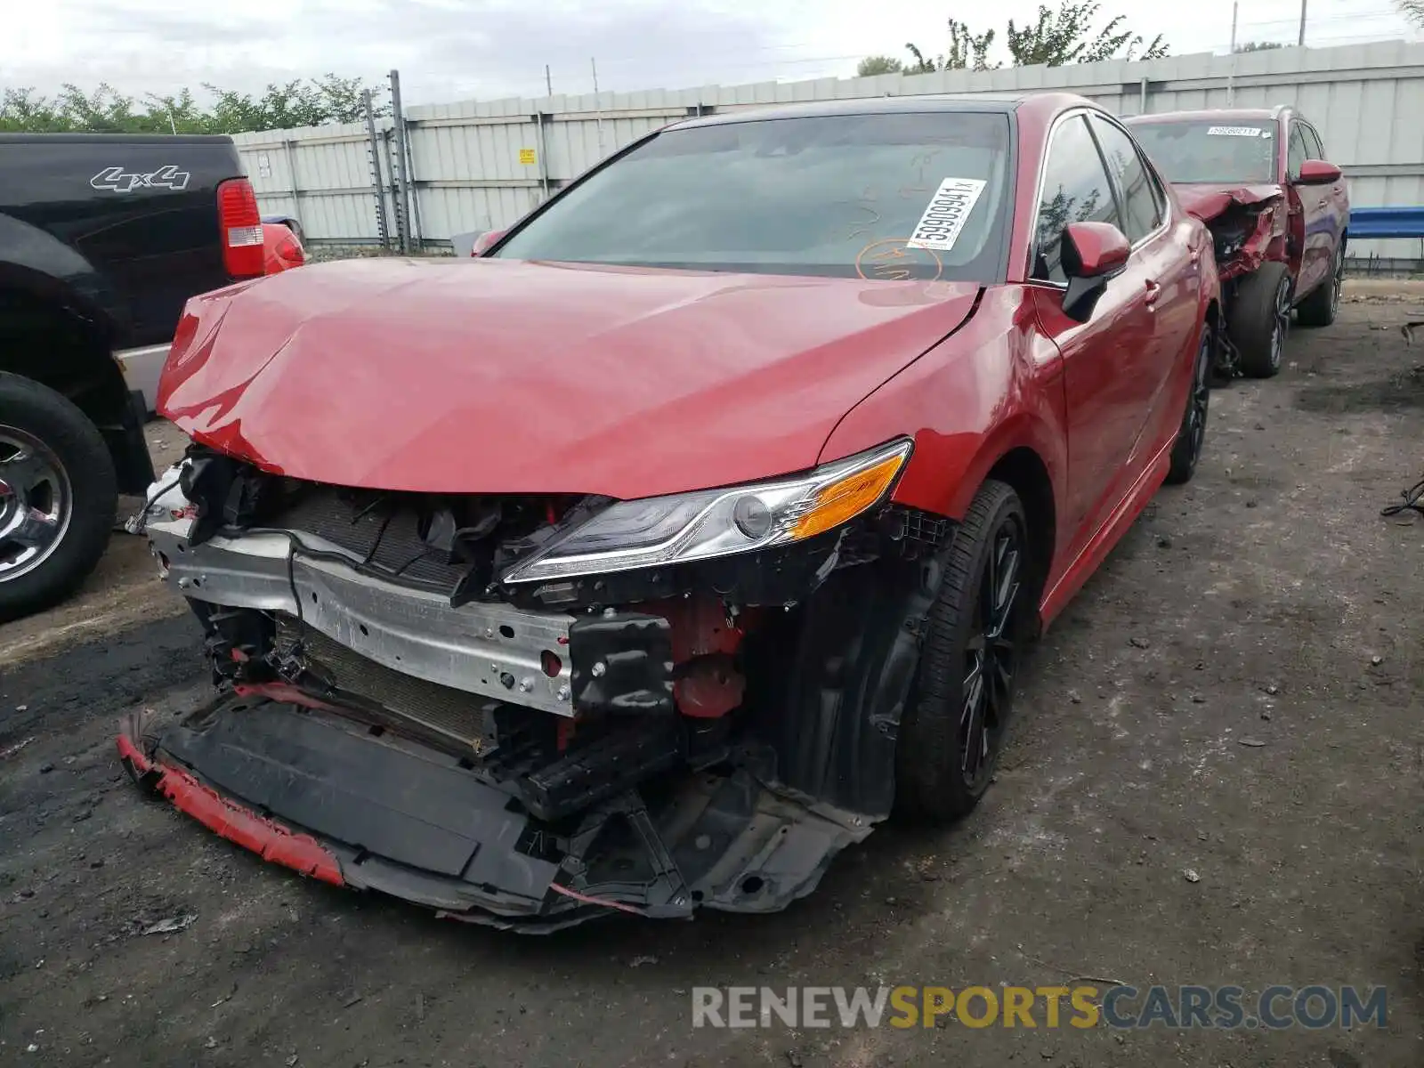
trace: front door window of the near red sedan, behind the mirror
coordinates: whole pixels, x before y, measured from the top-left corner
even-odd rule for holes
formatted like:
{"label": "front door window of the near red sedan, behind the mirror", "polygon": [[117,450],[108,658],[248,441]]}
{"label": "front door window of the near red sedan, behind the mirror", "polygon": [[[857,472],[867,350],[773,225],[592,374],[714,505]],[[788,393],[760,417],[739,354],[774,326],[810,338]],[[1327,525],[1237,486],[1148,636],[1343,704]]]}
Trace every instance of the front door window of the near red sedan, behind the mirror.
{"label": "front door window of the near red sedan, behind the mirror", "polygon": [[1044,161],[1044,191],[1038,201],[1038,228],[1032,276],[1067,282],[1062,269],[1064,228],[1069,222],[1111,222],[1121,226],[1118,204],[1088,120],[1074,115],[1054,131]]}

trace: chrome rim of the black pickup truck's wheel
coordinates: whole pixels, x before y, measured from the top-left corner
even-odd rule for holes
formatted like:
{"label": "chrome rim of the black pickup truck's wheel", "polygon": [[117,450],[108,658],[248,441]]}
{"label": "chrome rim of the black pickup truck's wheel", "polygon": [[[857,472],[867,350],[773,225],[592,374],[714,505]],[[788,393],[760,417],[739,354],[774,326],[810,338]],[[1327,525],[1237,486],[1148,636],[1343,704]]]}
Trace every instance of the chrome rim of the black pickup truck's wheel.
{"label": "chrome rim of the black pickup truck's wheel", "polygon": [[0,582],[34,571],[74,515],[68,473],[40,439],[0,424]]}

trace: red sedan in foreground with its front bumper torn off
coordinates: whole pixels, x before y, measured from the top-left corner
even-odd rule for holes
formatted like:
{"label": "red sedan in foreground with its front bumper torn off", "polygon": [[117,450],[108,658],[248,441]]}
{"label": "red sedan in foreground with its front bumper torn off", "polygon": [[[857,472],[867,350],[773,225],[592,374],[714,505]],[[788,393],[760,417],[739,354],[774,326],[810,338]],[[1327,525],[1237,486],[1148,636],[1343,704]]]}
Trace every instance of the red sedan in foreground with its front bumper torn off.
{"label": "red sedan in foreground with its front bumper torn off", "polygon": [[1085,100],[834,101],[658,131],[474,259],[198,298],[144,523],[216,693],[122,759],[464,920],[783,909],[978,802],[1025,644],[1192,476],[1208,245]]}

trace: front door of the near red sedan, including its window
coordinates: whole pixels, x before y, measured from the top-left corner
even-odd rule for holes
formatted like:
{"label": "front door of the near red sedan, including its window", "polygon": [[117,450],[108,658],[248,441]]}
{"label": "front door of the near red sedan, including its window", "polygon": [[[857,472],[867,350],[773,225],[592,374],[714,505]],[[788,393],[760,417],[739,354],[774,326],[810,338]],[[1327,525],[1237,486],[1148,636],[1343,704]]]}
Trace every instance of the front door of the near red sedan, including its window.
{"label": "front door of the near red sedan, including its window", "polygon": [[1152,387],[1141,375],[1153,345],[1161,293],[1141,251],[1111,279],[1088,322],[1064,313],[1062,235],[1069,222],[1124,225],[1116,191],[1088,125],[1087,110],[1058,120],[1044,157],[1031,282],[1040,326],[1064,359],[1068,426],[1069,555],[1111,514],[1131,484],[1126,473]]}

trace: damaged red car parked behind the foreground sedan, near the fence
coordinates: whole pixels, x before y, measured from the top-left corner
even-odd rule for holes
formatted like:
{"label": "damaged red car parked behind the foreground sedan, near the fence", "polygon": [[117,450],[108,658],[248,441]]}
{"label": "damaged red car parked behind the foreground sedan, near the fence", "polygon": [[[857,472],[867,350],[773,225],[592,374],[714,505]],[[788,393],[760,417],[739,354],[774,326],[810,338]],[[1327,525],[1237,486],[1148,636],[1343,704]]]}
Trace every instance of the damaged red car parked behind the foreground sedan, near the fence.
{"label": "damaged red car parked behind the foreground sedan, near the fence", "polygon": [[1172,111],[1128,120],[1212,231],[1226,340],[1219,370],[1280,370],[1290,312],[1329,326],[1340,306],[1350,195],[1320,134],[1290,107]]}

